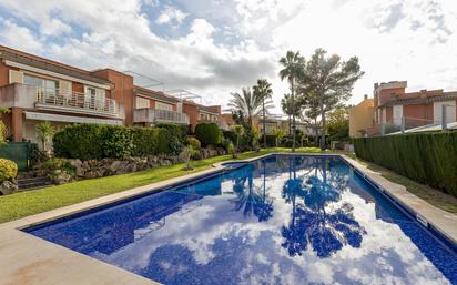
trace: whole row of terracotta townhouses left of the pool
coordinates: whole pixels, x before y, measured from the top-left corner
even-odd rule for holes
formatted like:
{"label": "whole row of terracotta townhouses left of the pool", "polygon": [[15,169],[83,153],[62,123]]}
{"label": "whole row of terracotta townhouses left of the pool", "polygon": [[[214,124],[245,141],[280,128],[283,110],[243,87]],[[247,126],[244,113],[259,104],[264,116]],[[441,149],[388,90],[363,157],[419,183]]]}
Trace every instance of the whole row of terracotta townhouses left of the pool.
{"label": "whole row of terracotta townhouses left of the pool", "polygon": [[0,45],[0,106],[8,136],[37,141],[37,125],[51,122],[153,125],[170,122],[194,130],[219,122],[221,106],[205,106],[134,85],[113,69],[88,71]]}

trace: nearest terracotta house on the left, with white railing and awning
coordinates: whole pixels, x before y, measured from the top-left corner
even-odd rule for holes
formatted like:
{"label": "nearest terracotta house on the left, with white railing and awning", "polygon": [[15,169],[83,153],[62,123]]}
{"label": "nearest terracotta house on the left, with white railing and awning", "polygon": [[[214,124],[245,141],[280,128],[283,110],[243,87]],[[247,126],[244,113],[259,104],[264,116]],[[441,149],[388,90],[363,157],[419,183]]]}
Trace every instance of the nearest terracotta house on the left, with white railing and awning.
{"label": "nearest terracotta house on the left, with white railing and awning", "polygon": [[90,71],[0,47],[0,105],[9,135],[14,141],[37,140],[37,124],[122,124],[123,101],[115,85]]}

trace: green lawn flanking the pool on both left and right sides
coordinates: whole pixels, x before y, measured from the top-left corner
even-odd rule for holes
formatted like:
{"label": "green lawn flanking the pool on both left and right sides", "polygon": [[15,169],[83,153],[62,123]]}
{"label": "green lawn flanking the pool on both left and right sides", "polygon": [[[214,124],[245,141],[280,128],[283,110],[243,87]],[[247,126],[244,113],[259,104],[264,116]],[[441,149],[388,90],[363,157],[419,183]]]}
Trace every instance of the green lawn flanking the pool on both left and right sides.
{"label": "green lawn flanking the pool on both left and right sides", "polygon": [[[273,152],[290,152],[290,149],[275,147],[262,150],[261,152],[246,152],[240,155],[238,159],[250,159],[258,155]],[[298,149],[301,153],[319,153],[315,147]],[[355,155],[346,152],[337,152],[346,154],[352,159]],[[17,220],[23,216],[42,213],[53,208],[75,204],[91,199],[113,194],[120,191],[146,185],[166,179],[182,176],[192,172],[202,171],[211,167],[216,162],[227,161],[230,155],[212,157],[207,160],[193,162],[193,171],[183,171],[183,164],[171,166],[161,166],[156,169],[145,170],[122,175],[106,176],[93,180],[83,180],[59,186],[50,186],[45,189],[17,193],[7,196],[0,196],[0,223]],[[403,184],[407,190],[430,204],[438,206],[445,211],[457,213],[457,199],[447,195],[438,190],[416,183],[392,171],[379,167],[375,164],[366,163],[368,167],[380,172],[386,179]]]}

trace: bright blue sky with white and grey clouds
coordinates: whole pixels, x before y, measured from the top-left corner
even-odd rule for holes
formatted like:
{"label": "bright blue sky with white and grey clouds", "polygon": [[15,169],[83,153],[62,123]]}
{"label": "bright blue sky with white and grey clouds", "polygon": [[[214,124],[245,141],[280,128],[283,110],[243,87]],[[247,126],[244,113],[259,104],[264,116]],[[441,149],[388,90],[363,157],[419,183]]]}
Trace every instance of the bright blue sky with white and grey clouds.
{"label": "bright blue sky with white and grey clouds", "polygon": [[[0,44],[94,70],[134,71],[226,106],[258,78],[273,85],[273,113],[288,93],[277,75],[287,50],[358,57],[375,82],[457,90],[455,0],[0,0]],[[144,84],[143,80],[140,82]]]}

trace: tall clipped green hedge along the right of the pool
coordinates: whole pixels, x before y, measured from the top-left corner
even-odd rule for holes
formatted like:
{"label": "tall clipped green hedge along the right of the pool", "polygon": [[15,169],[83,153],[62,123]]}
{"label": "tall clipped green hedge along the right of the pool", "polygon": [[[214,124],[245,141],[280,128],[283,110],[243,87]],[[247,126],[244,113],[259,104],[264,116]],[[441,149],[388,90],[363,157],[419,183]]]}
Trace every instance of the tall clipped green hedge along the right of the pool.
{"label": "tall clipped green hedge along the right of the pool", "polygon": [[357,157],[457,196],[457,132],[354,140]]}

